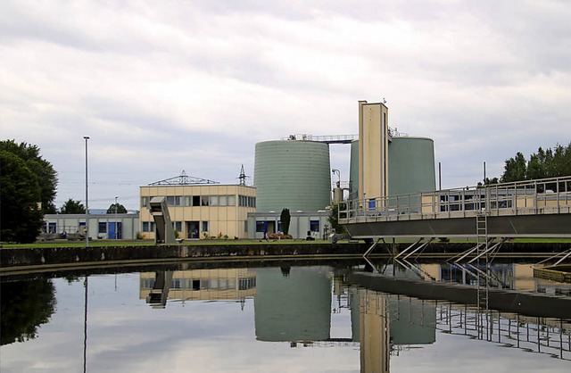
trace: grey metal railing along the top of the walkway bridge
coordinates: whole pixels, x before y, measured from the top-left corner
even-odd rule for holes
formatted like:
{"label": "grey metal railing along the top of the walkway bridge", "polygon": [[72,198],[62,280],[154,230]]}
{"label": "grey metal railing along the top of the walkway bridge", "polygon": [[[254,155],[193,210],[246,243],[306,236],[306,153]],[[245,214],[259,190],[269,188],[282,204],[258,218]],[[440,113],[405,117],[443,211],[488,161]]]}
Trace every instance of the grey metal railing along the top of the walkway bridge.
{"label": "grey metal railing along the top of the walkway bridge", "polygon": [[571,213],[571,176],[408,195],[356,199],[339,205],[339,222],[425,220]]}

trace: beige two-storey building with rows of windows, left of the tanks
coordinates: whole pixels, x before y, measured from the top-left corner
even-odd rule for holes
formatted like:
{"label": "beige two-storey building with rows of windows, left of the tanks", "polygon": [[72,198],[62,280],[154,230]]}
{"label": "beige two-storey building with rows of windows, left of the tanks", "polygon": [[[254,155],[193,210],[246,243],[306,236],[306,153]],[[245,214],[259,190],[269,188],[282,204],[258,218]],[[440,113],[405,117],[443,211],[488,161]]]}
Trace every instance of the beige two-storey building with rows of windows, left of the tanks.
{"label": "beige two-storey building with rows of windows, left of the tanks", "polygon": [[155,196],[167,198],[170,220],[178,238],[246,238],[248,212],[256,211],[254,187],[214,184],[186,177],[184,173],[140,187],[140,196],[141,232],[150,239],[154,238],[155,229],[148,203]]}

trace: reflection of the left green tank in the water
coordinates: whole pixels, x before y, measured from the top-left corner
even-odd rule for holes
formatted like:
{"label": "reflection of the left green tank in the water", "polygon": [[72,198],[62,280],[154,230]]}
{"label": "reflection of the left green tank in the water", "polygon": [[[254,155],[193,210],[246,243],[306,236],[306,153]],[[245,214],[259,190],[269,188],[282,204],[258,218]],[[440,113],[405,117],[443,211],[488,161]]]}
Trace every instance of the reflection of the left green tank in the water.
{"label": "reflection of the left green tank in the water", "polygon": [[325,341],[331,327],[331,280],[316,268],[256,269],[256,338]]}

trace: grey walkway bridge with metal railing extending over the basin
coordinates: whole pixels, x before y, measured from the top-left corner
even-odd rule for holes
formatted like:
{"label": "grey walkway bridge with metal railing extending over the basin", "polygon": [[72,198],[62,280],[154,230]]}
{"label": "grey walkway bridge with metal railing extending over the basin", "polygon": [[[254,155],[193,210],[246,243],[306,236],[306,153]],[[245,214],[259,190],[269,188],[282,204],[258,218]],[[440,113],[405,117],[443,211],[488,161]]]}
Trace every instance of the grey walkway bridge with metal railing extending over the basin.
{"label": "grey walkway bridge with metal railing extending over the basin", "polygon": [[339,223],[358,239],[571,237],[571,176],[347,201]]}

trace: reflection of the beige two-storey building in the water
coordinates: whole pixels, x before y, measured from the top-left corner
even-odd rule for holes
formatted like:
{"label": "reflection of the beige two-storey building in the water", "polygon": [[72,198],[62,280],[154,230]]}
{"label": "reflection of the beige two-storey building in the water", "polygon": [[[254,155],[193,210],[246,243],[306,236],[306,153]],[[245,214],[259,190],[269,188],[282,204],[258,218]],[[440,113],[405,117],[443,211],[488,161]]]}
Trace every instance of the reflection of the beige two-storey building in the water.
{"label": "reflection of the beige two-storey building in the water", "polygon": [[[157,284],[159,281],[161,284]],[[150,294],[164,294],[162,306],[167,298],[184,301],[244,300],[256,294],[256,273],[250,269],[142,272],[139,299],[153,303]]]}

